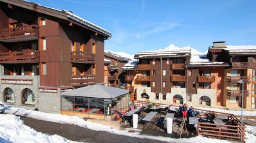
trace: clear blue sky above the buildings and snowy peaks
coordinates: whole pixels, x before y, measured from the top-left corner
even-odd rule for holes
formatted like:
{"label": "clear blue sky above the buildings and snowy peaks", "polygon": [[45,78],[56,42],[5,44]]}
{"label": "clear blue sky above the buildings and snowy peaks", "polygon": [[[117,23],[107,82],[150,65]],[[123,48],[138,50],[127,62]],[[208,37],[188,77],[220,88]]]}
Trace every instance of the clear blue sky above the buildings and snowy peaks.
{"label": "clear blue sky above the buildings and snowy peaks", "polygon": [[30,0],[71,10],[111,31],[105,49],[135,54],[176,46],[201,52],[212,41],[256,45],[256,1],[253,0]]}

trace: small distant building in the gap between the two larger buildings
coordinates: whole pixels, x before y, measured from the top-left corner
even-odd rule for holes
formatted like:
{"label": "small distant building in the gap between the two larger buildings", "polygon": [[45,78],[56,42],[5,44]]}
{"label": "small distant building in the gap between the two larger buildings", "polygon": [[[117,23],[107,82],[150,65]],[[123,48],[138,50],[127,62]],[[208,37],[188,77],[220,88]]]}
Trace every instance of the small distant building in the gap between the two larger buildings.
{"label": "small distant building in the gap between the two larger buildings", "polygon": [[128,61],[131,61],[131,59],[120,56],[118,54],[113,54],[112,52],[105,52],[104,57],[105,57],[104,82],[106,83],[106,85],[113,86],[113,87],[121,87],[121,86],[124,87],[125,73],[124,73],[124,70],[122,70],[122,67]]}

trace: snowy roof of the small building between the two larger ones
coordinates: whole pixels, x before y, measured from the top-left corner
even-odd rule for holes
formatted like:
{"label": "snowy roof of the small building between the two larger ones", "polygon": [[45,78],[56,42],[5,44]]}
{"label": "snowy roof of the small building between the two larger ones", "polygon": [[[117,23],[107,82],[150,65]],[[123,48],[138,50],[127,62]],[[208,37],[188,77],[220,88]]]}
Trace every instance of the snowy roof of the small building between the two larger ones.
{"label": "snowy roof of the small building between the two larger ones", "polygon": [[[125,53],[125,52],[113,52],[111,50],[106,50],[105,51],[105,56],[109,56],[109,57],[113,57],[115,59],[118,59],[120,61],[131,61],[131,58],[132,57],[131,55]],[[132,58],[133,59],[133,58]]]}

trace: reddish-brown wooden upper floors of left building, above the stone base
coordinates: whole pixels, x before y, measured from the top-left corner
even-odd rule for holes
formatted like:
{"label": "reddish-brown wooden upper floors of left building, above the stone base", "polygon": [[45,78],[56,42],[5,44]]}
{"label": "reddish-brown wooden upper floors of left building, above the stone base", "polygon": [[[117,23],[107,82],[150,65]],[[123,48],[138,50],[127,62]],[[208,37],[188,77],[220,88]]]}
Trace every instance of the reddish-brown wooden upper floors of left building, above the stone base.
{"label": "reddish-brown wooden upper floors of left building, above the stone base", "polygon": [[19,66],[22,70],[29,67],[30,73],[35,68],[40,86],[46,87],[104,82],[104,40],[111,34],[67,15],[26,1],[1,0],[0,64],[4,74],[19,75],[20,69],[15,69]]}

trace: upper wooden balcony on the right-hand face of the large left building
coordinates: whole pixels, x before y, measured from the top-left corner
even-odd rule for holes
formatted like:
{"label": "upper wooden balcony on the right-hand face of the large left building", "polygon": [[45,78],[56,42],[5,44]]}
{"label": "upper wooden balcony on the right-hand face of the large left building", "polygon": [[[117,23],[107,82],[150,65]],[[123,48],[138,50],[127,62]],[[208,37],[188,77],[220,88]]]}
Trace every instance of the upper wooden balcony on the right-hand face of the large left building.
{"label": "upper wooden balcony on the right-hand face of the large left building", "polygon": [[88,52],[72,51],[70,55],[72,63],[95,63],[94,54]]}

